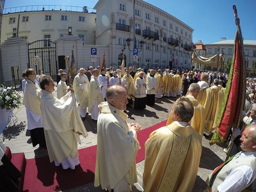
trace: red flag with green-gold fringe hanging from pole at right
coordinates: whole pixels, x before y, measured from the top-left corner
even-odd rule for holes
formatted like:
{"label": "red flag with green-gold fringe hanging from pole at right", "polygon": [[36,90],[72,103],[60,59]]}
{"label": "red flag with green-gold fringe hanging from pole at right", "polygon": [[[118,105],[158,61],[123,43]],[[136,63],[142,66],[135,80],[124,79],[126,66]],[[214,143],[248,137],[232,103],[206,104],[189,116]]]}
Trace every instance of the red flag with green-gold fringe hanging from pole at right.
{"label": "red flag with green-gold fringe hanging from pole at right", "polygon": [[228,83],[216,121],[217,130],[213,134],[210,144],[226,141],[231,126],[239,128],[246,88],[246,65],[244,64],[243,50],[242,34],[237,31]]}

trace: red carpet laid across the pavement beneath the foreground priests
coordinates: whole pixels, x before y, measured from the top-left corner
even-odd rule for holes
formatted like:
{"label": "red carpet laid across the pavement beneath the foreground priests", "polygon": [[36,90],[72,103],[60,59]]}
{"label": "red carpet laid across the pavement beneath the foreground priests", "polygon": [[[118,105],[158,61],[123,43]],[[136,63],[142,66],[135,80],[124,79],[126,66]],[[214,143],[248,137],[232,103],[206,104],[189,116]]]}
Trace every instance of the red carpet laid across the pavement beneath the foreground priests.
{"label": "red carpet laid across the pavement beneath the foreground priests", "polygon": [[[166,120],[167,121],[167,120]],[[141,130],[137,138],[141,149],[138,151],[136,162],[144,160],[144,143],[149,134],[162,126],[166,121]],[[74,170],[62,169],[50,163],[49,157],[27,160],[23,190],[27,192],[55,192],[71,189],[94,181],[96,145],[78,150],[80,165]]]}

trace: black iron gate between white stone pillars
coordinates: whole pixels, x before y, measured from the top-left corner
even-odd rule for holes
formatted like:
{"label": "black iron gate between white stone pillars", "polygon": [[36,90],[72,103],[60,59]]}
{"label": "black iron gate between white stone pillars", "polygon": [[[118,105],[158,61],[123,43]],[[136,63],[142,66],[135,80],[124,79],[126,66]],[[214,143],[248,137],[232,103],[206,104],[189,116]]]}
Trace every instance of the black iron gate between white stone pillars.
{"label": "black iron gate between white stone pillars", "polygon": [[[34,57],[38,56],[40,61],[34,64]],[[40,65],[40,66],[39,66]],[[37,40],[29,44],[29,68],[36,70],[42,68],[43,74],[52,76],[56,81],[58,71],[56,59],[56,43],[50,40]]]}

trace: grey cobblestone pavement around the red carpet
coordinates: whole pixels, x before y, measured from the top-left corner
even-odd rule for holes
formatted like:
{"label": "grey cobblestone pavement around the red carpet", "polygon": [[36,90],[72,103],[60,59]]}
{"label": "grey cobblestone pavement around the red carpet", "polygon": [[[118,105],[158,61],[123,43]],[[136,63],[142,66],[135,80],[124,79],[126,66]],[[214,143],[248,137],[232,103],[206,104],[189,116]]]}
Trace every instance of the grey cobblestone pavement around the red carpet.
{"label": "grey cobblestone pavement around the red carpet", "polygon": [[[56,94],[56,92],[54,92]],[[176,97],[177,98],[177,97]],[[147,106],[144,110],[134,110],[132,106],[128,107],[125,112],[128,114],[128,123],[140,123],[143,128],[148,128],[168,118],[172,104],[176,98],[162,97],[156,99],[155,106]],[[7,128],[4,129],[0,138],[4,140],[6,146],[10,147],[12,153],[25,153],[26,159],[38,158],[47,156],[47,150],[39,148],[38,145],[32,147],[30,132],[27,130],[27,116],[25,106],[20,109],[15,109],[14,114],[17,117],[17,122],[11,121]],[[89,114],[84,121],[84,125],[88,131],[88,137],[81,137],[81,145],[79,149],[96,145],[96,121],[91,120]],[[202,140],[202,155],[198,168],[196,181],[192,192],[202,192],[206,188],[205,180],[215,167],[220,165],[226,158],[223,152],[225,144],[209,145],[210,136],[203,136]],[[137,163],[138,183],[133,186],[133,192],[142,192],[142,174],[144,170],[144,160]],[[189,177],[189,176],[188,176]],[[103,192],[100,187],[95,188],[94,183],[89,183],[73,189],[64,190],[64,192]]]}

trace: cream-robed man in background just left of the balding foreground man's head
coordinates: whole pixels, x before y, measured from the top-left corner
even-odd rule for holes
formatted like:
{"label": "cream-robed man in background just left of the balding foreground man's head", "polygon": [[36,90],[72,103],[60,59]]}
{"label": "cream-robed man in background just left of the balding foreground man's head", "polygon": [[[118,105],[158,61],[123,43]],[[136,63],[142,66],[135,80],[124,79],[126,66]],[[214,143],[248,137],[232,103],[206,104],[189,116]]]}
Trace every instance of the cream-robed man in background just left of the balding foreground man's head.
{"label": "cream-robed man in background just left of the balding foreground man's head", "polygon": [[88,110],[91,113],[91,118],[95,121],[98,120],[98,104],[104,101],[101,94],[101,89],[103,84],[99,84],[98,81],[99,70],[93,70],[93,76],[91,76],[91,81],[89,85],[89,105]]}

